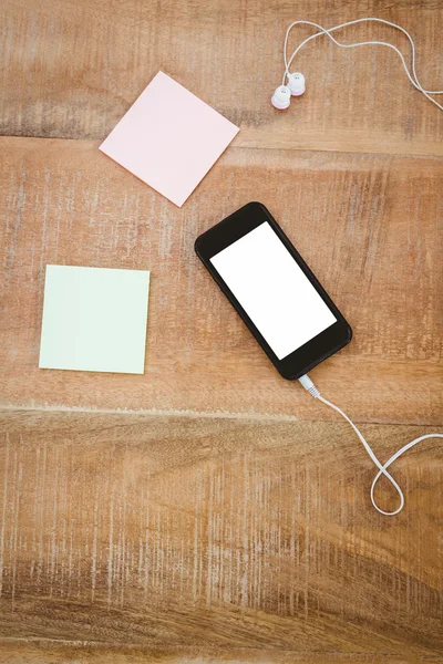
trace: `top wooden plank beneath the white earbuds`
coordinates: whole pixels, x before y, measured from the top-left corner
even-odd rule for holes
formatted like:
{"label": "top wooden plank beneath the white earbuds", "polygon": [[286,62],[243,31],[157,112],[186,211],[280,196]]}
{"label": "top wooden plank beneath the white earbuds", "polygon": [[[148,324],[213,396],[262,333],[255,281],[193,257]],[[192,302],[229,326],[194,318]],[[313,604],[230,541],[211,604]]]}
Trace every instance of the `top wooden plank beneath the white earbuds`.
{"label": "top wooden plank beneath the white earbuds", "polygon": [[[361,17],[394,21],[416,40],[424,87],[442,89],[443,7],[437,0],[3,0],[0,131],[9,135],[104,138],[159,69],[241,127],[235,145],[443,156],[443,115],[383,48],[309,44],[296,70],[307,93],[274,110],[287,25],[327,27]],[[291,43],[311,34],[298,28]],[[410,59],[389,27],[347,29],[344,42],[382,39]]]}

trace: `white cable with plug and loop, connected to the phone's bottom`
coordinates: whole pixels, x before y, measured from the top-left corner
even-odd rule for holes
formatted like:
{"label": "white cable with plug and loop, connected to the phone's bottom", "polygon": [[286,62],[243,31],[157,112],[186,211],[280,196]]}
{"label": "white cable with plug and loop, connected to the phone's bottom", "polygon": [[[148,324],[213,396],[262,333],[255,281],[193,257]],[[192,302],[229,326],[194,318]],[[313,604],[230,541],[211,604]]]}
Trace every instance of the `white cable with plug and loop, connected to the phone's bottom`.
{"label": "white cable with plug and loop, connected to the phone's bottom", "polygon": [[[364,438],[363,434],[357,428],[357,426],[348,417],[348,415],[346,413],[343,413],[343,411],[341,408],[339,408],[331,402],[323,398],[321,396],[320,392],[317,390],[317,387],[315,386],[315,384],[312,383],[312,381],[310,380],[310,377],[307,374],[301,376],[301,378],[299,378],[299,382],[305,387],[305,390],[307,390],[309,392],[309,394],[311,394],[315,398],[318,398],[319,401],[321,401],[323,404],[326,404],[330,408],[333,408],[334,411],[337,411],[337,413],[340,413],[340,415],[342,417],[344,417],[344,419],[351,425],[351,427],[353,428],[353,430],[360,438],[361,443],[363,444],[364,449],[367,450],[367,453],[371,457],[372,461],[375,464],[375,466],[379,469],[378,474],[375,475],[375,477],[372,480],[372,486],[371,486],[371,502],[372,502],[372,505],[374,506],[377,511],[379,511],[381,515],[385,515],[387,517],[393,517],[394,515],[398,515],[403,509],[404,496],[403,496],[403,491],[401,490],[401,488],[399,487],[399,485],[396,484],[396,481],[394,480],[392,475],[390,473],[388,473],[387,468],[389,468],[389,466],[391,464],[393,464],[399,457],[401,457],[402,454],[408,452],[408,449],[411,449],[411,447],[414,447],[414,445],[418,445],[418,443],[421,443],[422,440],[425,440],[426,438],[443,438],[443,434],[425,434],[424,436],[420,436],[419,438],[411,440],[411,443],[408,443],[408,445],[403,445],[403,447],[401,447],[398,452],[395,452],[395,454],[393,454],[385,464],[381,464],[379,461],[379,459],[377,458],[377,456],[374,455],[374,453],[372,452],[372,448],[369,445],[369,443],[367,442],[367,439]],[[399,498],[400,498],[399,507],[394,511],[391,511],[391,512],[388,512],[388,511],[384,511],[383,509],[381,509],[377,505],[375,498],[374,498],[375,485],[382,475],[384,475],[384,477],[387,477],[389,479],[389,481],[394,487],[395,491],[399,494]]]}

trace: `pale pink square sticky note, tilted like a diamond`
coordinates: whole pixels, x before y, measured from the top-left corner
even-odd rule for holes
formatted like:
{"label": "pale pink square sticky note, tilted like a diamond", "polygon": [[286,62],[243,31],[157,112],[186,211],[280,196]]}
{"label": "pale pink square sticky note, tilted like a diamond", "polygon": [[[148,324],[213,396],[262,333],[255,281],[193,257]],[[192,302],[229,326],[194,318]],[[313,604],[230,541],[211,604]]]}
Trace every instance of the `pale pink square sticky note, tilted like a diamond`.
{"label": "pale pink square sticky note, tilted like a diamond", "polygon": [[238,131],[158,72],[100,149],[181,207]]}

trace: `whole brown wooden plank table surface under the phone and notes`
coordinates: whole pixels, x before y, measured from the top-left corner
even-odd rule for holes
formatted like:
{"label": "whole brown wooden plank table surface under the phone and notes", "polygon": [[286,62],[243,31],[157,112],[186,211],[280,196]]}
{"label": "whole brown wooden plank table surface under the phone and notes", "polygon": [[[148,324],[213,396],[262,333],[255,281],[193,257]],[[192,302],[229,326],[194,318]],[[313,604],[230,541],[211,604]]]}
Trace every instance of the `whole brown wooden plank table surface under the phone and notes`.
{"label": "whole brown wooden plank table surface under the phone and notes", "polygon": [[[441,442],[375,512],[352,430],[193,250],[265,203],[354,330],[312,372],[324,396],[381,459],[442,432],[443,114],[394,52],[326,39],[306,94],[269,103],[290,21],[364,15],[410,30],[443,87],[437,0],[1,3],[1,662],[443,662]],[[409,58],[387,27],[342,39]],[[97,151],[158,70],[240,126],[182,209]],[[38,369],[47,263],[152,270],[144,375]]]}

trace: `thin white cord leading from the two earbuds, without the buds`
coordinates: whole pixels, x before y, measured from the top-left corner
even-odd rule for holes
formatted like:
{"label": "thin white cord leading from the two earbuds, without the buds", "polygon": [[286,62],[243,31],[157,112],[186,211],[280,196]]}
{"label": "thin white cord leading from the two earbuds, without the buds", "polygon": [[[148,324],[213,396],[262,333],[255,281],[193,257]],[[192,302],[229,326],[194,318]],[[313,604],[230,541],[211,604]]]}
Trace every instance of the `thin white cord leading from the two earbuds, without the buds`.
{"label": "thin white cord leading from the two earbuds, without the buds", "polygon": [[[400,52],[400,50],[394,46],[393,44],[389,43],[389,42],[383,42],[383,41],[363,41],[363,42],[356,42],[356,43],[351,43],[351,44],[343,44],[341,42],[339,42],[332,34],[331,32],[334,32],[336,30],[341,30],[342,28],[347,28],[348,25],[354,25],[357,23],[363,23],[365,21],[372,21],[372,22],[377,22],[377,23],[384,23],[385,25],[390,25],[391,28],[395,28],[395,30],[400,30],[403,34],[405,34],[410,41],[411,44],[411,49],[412,49],[412,58],[411,58],[411,69],[412,69],[412,73],[410,72],[403,54]],[[303,25],[312,25],[313,28],[317,28],[320,32],[316,32],[315,34],[311,34],[310,37],[308,37],[305,41],[302,41],[297,49],[293,51],[292,55],[290,56],[289,61],[288,61],[288,54],[287,54],[287,48],[288,48],[288,39],[289,39],[289,33],[292,30],[292,28],[295,25],[299,25],[299,24],[303,24]],[[296,58],[297,53],[300,51],[300,49],[302,49],[308,42],[310,42],[312,39],[316,39],[318,37],[321,37],[322,34],[326,34],[327,37],[329,37],[329,39],[337,44],[338,46],[342,48],[342,49],[354,49],[357,46],[365,46],[365,45],[379,45],[379,46],[387,46],[389,49],[392,49],[393,51],[395,51],[395,53],[398,53],[398,55],[400,55],[400,59],[402,61],[404,71],[406,72],[408,79],[411,81],[412,85],[414,87],[416,87],[416,90],[420,90],[420,92],[422,92],[424,94],[424,96],[426,98],[429,98],[433,104],[435,104],[435,106],[437,106],[441,111],[443,111],[443,105],[439,104],[439,102],[436,102],[435,100],[432,98],[432,96],[430,96],[431,94],[443,94],[443,90],[424,90],[424,87],[421,85],[419,77],[416,75],[416,71],[415,71],[415,44],[414,44],[414,40],[412,39],[412,37],[410,35],[410,33],[404,30],[404,28],[402,28],[401,25],[398,25],[396,23],[391,23],[390,21],[385,21],[384,19],[377,19],[377,18],[363,18],[363,19],[357,19],[356,21],[348,21],[347,23],[341,23],[340,25],[334,25],[333,28],[323,28],[322,25],[319,25],[318,23],[315,23],[312,21],[293,21],[293,23],[291,23],[289,25],[289,28],[286,31],[286,37],[285,37],[285,46],[284,46],[284,58],[285,58],[285,74],[284,74],[284,79],[282,79],[282,85],[285,85],[287,77],[289,77],[290,72],[289,72],[289,68],[292,64],[293,59]]]}

